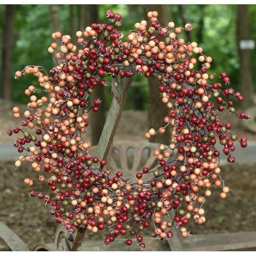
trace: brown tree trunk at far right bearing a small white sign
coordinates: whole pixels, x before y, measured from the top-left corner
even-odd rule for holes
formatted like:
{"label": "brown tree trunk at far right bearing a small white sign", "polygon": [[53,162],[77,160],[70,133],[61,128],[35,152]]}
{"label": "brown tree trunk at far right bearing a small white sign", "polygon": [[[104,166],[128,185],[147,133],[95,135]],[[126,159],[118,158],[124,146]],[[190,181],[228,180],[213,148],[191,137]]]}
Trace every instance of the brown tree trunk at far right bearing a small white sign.
{"label": "brown tree trunk at far right bearing a small white sign", "polygon": [[[237,5],[237,39],[238,44],[241,40],[250,39],[250,17],[247,5]],[[241,63],[241,93],[244,96],[242,102],[243,111],[253,103],[253,76],[251,72],[251,49],[240,49],[239,56]]]}

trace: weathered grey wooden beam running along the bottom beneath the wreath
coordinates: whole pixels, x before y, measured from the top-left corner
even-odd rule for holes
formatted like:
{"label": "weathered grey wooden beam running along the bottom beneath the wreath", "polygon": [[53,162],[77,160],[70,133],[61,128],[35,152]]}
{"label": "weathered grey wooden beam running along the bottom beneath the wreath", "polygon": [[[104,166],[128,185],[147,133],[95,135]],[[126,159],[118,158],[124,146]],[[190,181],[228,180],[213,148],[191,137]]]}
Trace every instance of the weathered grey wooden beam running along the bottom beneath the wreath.
{"label": "weathered grey wooden beam running along the bottom beneath the wreath", "polygon": [[[179,232],[177,230],[177,232]],[[178,234],[175,234],[178,235]],[[175,235],[168,239],[167,242],[175,238]],[[177,240],[179,236],[177,236]],[[79,251],[134,251],[139,250],[137,244],[131,246],[124,246],[126,239],[118,239],[108,246],[105,246],[104,241],[97,240],[93,243],[84,241]],[[221,251],[221,250],[250,250],[256,247],[256,232],[238,232],[238,233],[216,233],[205,235],[194,235],[189,238],[182,238],[182,246],[178,248],[177,245],[172,244],[170,248],[166,241],[158,241],[151,237],[145,237],[143,241],[146,244],[145,251]],[[180,243],[178,241],[178,243]],[[174,246],[173,246],[174,245]]]}

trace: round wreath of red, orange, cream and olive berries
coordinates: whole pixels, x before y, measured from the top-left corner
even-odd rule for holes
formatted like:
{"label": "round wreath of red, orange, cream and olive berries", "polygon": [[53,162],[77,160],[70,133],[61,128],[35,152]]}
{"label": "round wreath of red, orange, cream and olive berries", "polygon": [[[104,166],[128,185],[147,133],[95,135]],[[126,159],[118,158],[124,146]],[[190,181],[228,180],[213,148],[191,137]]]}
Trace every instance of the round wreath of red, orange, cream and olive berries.
{"label": "round wreath of red, orange, cream and olive berries", "polygon": [[[212,58],[196,42],[186,43],[180,37],[183,30],[192,31],[191,24],[175,28],[170,22],[163,27],[157,16],[155,11],[148,12],[148,22],[136,23],[134,30],[123,35],[122,16],[108,10],[109,25],[93,23],[84,32],[78,31],[76,44],[69,35],[52,34],[55,42],[48,51],[56,67],[49,74],[41,66],[27,66],[15,74],[16,78],[30,73],[37,76],[49,93],[49,98],[38,99],[36,88],[29,86],[25,91],[30,97],[29,110],[22,114],[13,108],[15,118],[23,119],[22,128],[7,131],[8,135],[22,134],[14,145],[20,153],[29,152],[15,166],[26,161],[35,172],[44,173],[38,180],[26,178],[24,182],[29,186],[46,182],[52,190],[49,195],[32,191],[30,196],[50,204],[50,214],[71,233],[75,227],[92,232],[110,229],[105,244],[121,234],[129,236],[126,244],[134,239],[143,249],[140,231],[150,226],[150,217],[154,218],[153,237],[171,238],[175,228],[183,237],[189,236],[190,218],[198,224],[206,221],[203,206],[211,188],[222,186],[221,198],[229,192],[220,177],[217,140],[230,163],[235,162],[233,141],[247,145],[246,138],[232,134],[231,124],[218,117],[224,110],[238,118],[250,117],[233,107],[230,98],[242,101],[243,97],[230,88],[230,78],[226,73],[209,75]],[[107,85],[106,76],[131,77],[131,71],[124,71],[129,65],[140,75],[159,81],[162,102],[170,109],[163,127],[151,128],[145,137],[163,134],[172,125],[170,144],[159,144],[154,151],[159,165],[154,170],[143,168],[136,182],[125,182],[122,172],[92,157],[91,144],[81,137],[87,132],[89,112],[97,112],[101,103],[98,99],[89,108],[88,97],[96,86]],[[24,128],[34,129],[37,136]],[[174,219],[170,211],[175,211]]]}

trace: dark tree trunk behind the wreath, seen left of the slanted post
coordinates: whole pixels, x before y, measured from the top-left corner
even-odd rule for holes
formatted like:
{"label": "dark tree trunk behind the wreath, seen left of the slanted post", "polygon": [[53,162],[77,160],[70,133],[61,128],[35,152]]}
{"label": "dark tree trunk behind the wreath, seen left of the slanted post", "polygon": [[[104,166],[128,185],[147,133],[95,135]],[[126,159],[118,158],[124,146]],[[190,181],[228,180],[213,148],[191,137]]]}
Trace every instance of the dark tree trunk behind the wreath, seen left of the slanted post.
{"label": "dark tree trunk behind the wreath, seen left of the slanted post", "polygon": [[[87,26],[91,26],[92,23],[99,22],[99,13],[98,13],[98,6],[97,5],[80,5],[79,6],[81,17],[79,22],[79,28],[81,31],[84,31]],[[105,100],[104,100],[104,93],[105,89],[102,88],[99,84],[94,88],[92,94],[92,102],[95,99],[101,99],[102,103],[99,105],[99,111],[96,113],[92,113],[90,122],[91,128],[91,143],[92,145],[97,145],[99,143],[99,138],[102,134],[102,129],[105,124]]]}

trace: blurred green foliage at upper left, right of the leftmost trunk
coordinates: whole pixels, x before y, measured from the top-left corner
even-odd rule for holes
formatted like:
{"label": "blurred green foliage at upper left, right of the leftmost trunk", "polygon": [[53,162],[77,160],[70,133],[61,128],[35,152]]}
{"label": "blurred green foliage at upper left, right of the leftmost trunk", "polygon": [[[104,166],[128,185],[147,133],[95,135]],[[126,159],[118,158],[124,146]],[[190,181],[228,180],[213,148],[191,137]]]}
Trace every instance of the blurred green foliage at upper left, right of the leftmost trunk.
{"label": "blurred green foliage at upper left, right of the leftmost trunk", "polygon": [[[68,6],[61,6],[61,25],[68,26]],[[20,5],[15,12],[15,47],[13,51],[12,69],[22,70],[26,65],[41,65],[49,70],[52,67],[52,58],[47,51],[50,46],[51,29],[49,6],[47,5]],[[13,79],[12,99],[20,103],[27,103],[24,90],[28,85],[38,84],[38,79],[29,75],[21,78],[19,83]],[[41,87],[37,92],[44,95]]]}

